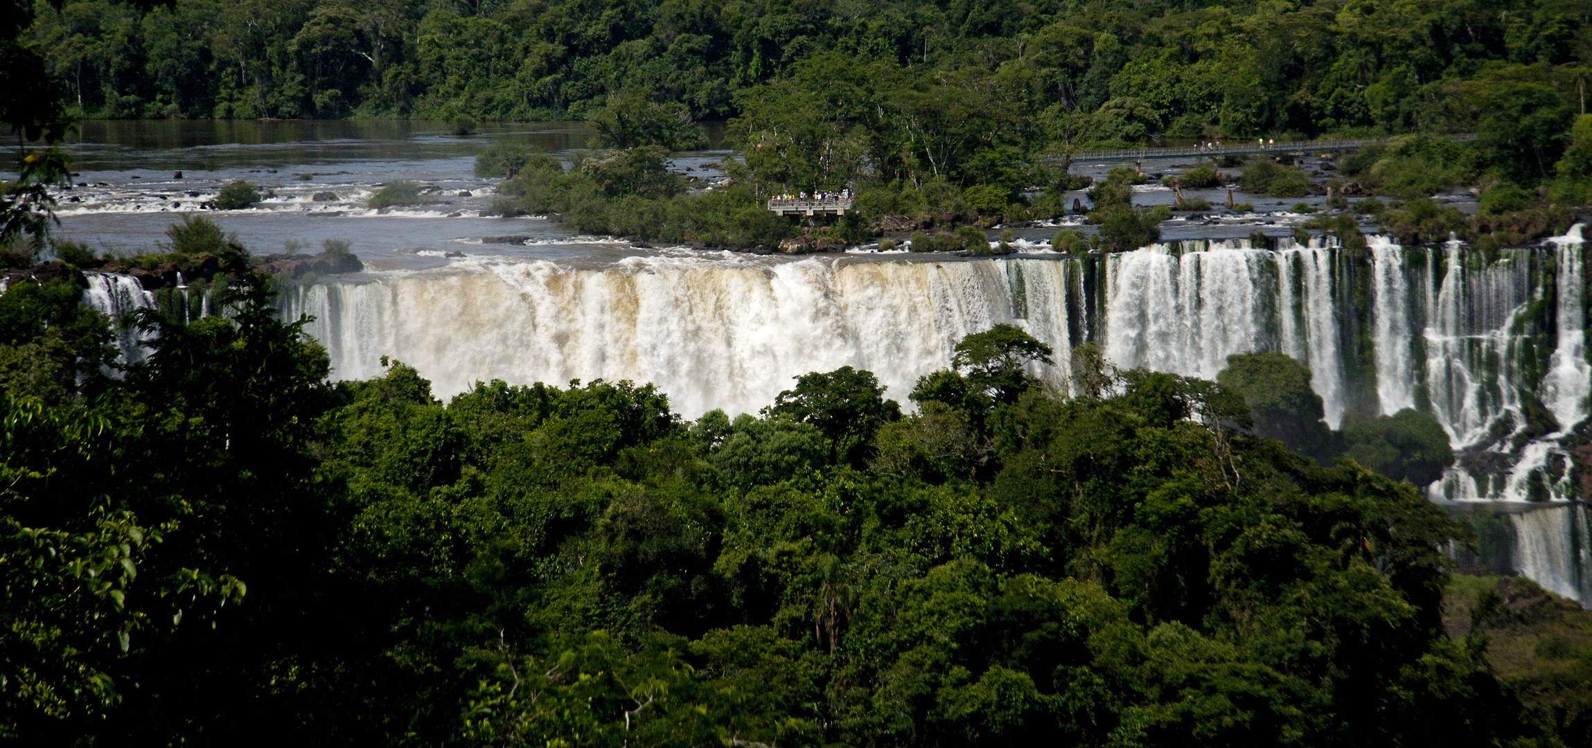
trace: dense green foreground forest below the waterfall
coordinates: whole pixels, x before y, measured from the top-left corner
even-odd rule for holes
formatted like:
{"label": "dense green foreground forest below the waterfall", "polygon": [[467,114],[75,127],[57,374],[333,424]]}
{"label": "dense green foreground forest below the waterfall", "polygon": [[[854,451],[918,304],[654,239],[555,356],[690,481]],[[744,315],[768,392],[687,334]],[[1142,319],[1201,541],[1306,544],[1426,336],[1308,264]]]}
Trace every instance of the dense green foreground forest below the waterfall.
{"label": "dense green foreground forest below the waterfall", "polygon": [[1055,352],[1000,325],[912,412],[852,368],[734,417],[600,380],[444,403],[400,361],[326,382],[247,255],[218,261],[223,315],[143,314],[116,376],[75,280],[0,296],[8,738],[1581,735],[1446,632],[1460,525],[1262,436],[1312,406],[1277,361],[1202,382],[1084,345],[1040,379]]}

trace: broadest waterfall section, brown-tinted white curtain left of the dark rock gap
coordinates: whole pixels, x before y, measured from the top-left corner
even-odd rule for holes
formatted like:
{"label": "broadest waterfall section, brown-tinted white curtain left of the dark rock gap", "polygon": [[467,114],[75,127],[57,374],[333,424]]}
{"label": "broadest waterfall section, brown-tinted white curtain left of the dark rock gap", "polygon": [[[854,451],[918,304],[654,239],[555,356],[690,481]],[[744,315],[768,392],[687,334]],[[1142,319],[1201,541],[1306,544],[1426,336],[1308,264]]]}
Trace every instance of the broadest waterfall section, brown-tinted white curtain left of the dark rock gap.
{"label": "broadest waterfall section, brown-tinted white curtain left of the dark rock gap", "polygon": [[1068,361],[1065,267],[1048,259],[460,263],[298,288],[285,301],[287,317],[315,317],[309,333],[342,379],[377,376],[382,355],[420,369],[443,396],[478,379],[630,379],[656,384],[689,417],[755,412],[794,376],[841,366],[876,372],[906,401],[958,339],[1001,321],[1055,349],[1046,377],[1063,379]]}

